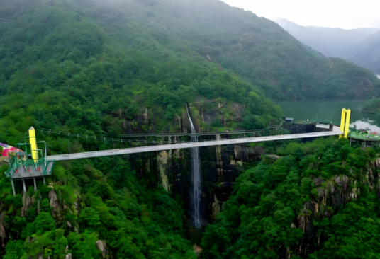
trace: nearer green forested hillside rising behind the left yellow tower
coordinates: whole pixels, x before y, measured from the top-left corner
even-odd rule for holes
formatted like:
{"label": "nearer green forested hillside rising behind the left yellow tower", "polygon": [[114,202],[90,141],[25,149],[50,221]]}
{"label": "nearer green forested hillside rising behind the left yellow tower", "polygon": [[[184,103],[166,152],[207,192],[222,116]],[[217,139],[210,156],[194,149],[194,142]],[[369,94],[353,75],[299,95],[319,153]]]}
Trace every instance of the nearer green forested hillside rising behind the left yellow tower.
{"label": "nearer green forested hillside rising behind the left yellow tower", "polygon": [[160,117],[152,128],[159,131],[199,96],[241,103],[262,126],[279,121],[281,109],[255,86],[121,11],[88,4],[1,1],[8,10],[0,22],[1,139],[13,143],[11,113],[36,127],[116,135],[118,120],[133,121],[147,107]]}

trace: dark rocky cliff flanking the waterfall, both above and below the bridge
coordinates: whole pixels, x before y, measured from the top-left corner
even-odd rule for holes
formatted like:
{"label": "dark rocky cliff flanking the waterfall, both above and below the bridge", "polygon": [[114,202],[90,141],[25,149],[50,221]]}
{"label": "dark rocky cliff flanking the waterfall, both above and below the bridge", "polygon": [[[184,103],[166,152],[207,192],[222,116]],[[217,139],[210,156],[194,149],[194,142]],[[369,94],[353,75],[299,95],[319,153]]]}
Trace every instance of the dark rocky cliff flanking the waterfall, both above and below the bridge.
{"label": "dark rocky cliff flanking the waterfall, both above and below the bridge", "polygon": [[[218,100],[199,100],[189,103],[189,113],[197,132],[211,132],[215,123],[225,131],[232,131],[233,125],[240,122],[244,107],[238,103],[228,103]],[[142,110],[136,117],[139,123],[125,122],[125,134],[139,133],[144,128],[155,129],[154,111]],[[147,122],[147,125],[145,123]],[[148,126],[149,125],[149,126]],[[151,132],[151,133],[152,133]],[[174,116],[172,124],[167,129],[155,133],[187,133],[191,132],[189,117],[186,112]],[[140,132],[141,133],[141,132]],[[210,139],[225,139],[229,135],[212,135]],[[178,142],[184,137],[171,137],[169,142]],[[160,137],[158,138],[160,139]],[[165,141],[168,139],[165,138]],[[208,146],[199,149],[201,156],[202,193],[201,217],[202,224],[207,225],[221,209],[223,202],[228,200],[233,190],[235,179],[242,173],[242,167],[247,161],[255,161],[264,153],[264,149],[253,149],[245,144],[228,146]],[[134,163],[133,161],[141,161]],[[189,204],[188,191],[191,184],[191,163],[189,150],[176,149],[159,151],[149,154],[133,154],[130,156],[133,168],[145,179],[153,179],[168,192],[178,192],[184,195],[184,207]]]}

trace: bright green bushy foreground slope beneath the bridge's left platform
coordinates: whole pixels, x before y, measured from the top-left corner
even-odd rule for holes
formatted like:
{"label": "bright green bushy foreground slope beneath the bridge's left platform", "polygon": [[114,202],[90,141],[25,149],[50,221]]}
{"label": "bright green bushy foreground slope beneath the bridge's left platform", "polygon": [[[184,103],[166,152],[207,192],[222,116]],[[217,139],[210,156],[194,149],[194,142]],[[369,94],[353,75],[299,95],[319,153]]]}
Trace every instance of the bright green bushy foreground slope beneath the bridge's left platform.
{"label": "bright green bushy foreground slope beneath the bridge's left platform", "polygon": [[53,191],[38,180],[37,192],[32,183],[13,196],[1,173],[1,258],[102,258],[99,240],[104,258],[196,258],[184,240],[181,203],[153,180],[138,180],[125,159],[62,163],[51,180]]}

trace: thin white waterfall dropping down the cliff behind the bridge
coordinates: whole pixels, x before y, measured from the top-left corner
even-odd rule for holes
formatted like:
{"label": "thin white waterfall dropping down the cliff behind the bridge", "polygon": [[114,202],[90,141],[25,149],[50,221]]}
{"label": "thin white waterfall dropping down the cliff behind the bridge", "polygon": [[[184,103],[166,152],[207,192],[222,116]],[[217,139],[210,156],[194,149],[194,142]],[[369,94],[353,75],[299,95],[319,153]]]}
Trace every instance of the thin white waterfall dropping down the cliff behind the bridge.
{"label": "thin white waterfall dropping down the cliff behind the bridge", "polygon": [[[193,122],[189,114],[189,106],[186,105],[187,115],[189,116],[189,121],[191,125],[191,133],[196,133]],[[196,137],[191,136],[191,142],[197,142]],[[200,228],[201,221],[199,219],[199,203],[201,202],[201,166],[199,162],[199,149],[198,147],[191,148],[191,160],[193,163],[193,168],[191,170],[191,183],[192,183],[192,195],[191,195],[191,205],[192,217],[194,219],[194,227]]]}

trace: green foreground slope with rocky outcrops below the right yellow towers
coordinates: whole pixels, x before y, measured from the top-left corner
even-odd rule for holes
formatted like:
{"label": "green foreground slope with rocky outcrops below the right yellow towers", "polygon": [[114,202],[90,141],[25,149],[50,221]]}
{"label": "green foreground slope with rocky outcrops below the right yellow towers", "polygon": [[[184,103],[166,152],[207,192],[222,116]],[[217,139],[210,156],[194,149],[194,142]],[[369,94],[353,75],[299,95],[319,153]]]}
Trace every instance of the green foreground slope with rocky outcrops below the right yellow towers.
{"label": "green foreground slope with rocky outcrops below the right yellow towers", "polygon": [[379,151],[335,138],[278,147],[240,175],[204,258],[378,258]]}

